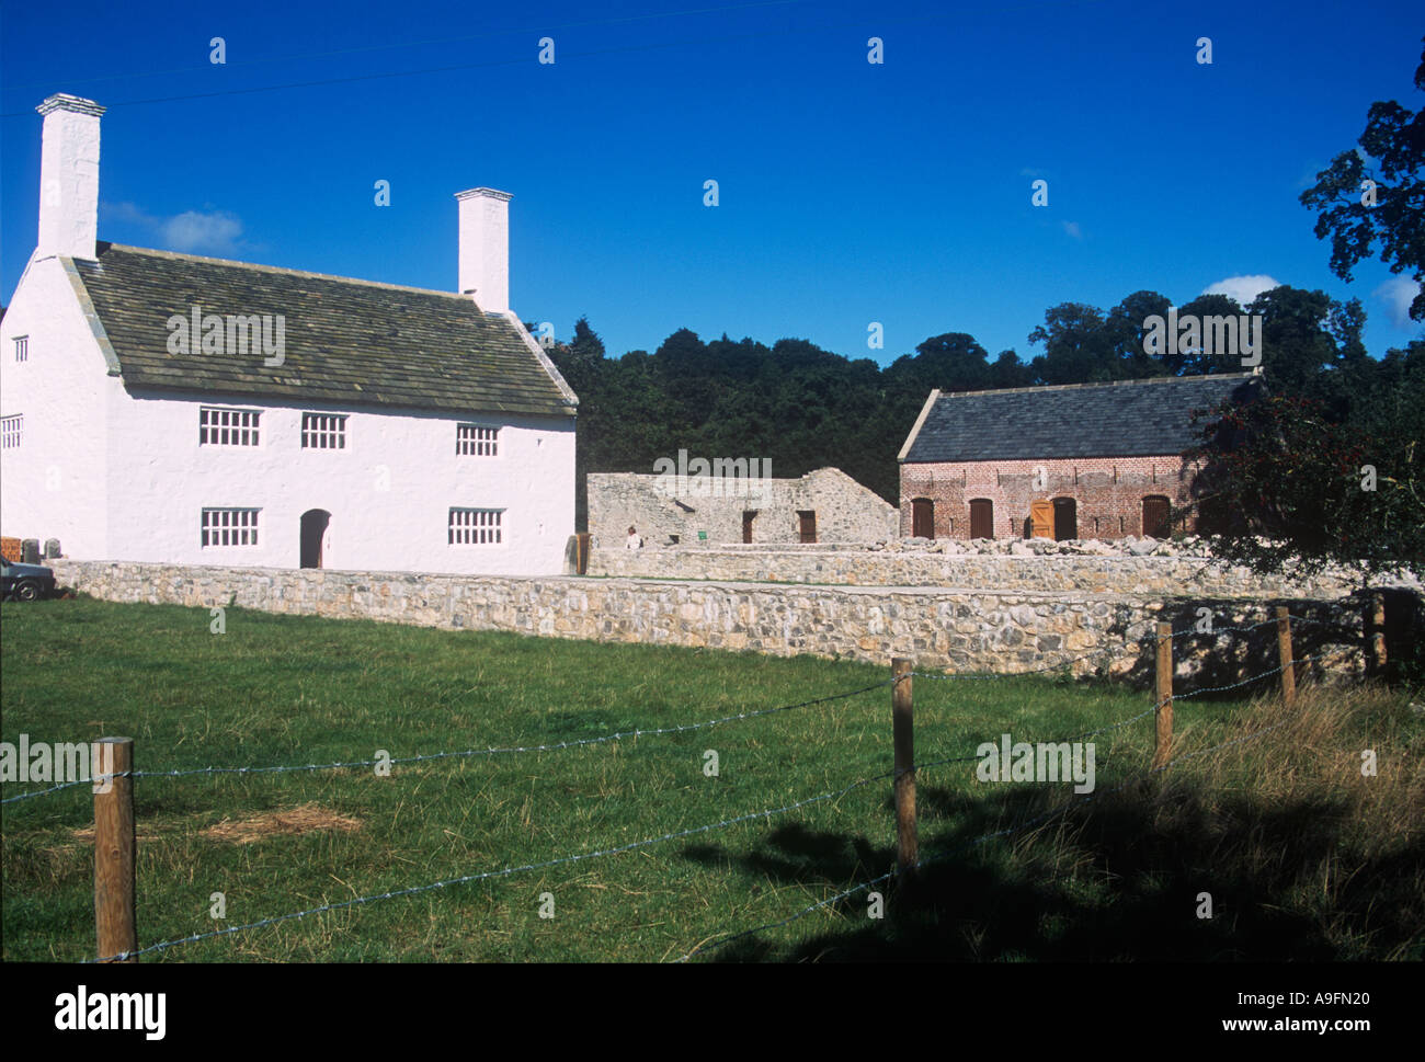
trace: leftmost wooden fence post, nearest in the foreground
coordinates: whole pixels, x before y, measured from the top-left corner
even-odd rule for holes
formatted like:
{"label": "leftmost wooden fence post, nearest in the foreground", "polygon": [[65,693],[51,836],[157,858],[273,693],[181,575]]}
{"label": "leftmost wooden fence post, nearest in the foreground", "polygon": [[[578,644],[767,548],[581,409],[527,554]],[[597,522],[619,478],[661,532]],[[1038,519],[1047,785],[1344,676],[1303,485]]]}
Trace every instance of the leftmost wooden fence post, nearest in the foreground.
{"label": "leftmost wooden fence post, nearest in the foreground", "polygon": [[134,921],[134,780],[130,777],[134,770],[134,738],[101,737],[91,750],[94,928],[98,935],[98,958],[104,958],[138,949]]}

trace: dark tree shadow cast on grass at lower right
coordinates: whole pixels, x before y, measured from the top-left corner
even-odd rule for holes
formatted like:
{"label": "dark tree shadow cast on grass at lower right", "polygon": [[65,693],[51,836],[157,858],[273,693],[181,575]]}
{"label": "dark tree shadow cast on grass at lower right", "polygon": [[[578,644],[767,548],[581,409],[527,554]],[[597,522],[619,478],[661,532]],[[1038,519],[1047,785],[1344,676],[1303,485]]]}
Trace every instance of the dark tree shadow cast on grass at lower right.
{"label": "dark tree shadow cast on grass at lower right", "polygon": [[[1344,865],[1344,805],[1301,800],[1264,807],[1250,795],[1204,798],[1174,785],[1167,811],[1139,783],[1079,804],[1030,830],[976,844],[988,832],[1043,814],[1023,787],[973,798],[922,787],[921,858],[913,881],[886,892],[884,919],[868,917],[866,891],[839,904],[851,925],[802,935],[787,947],[767,934],[737,939],[707,958],[748,961],[1325,961],[1344,954],[1342,929],[1374,931],[1371,958],[1418,934],[1395,917],[1401,890],[1419,872],[1419,854]],[[953,817],[955,825],[943,825]],[[1030,841],[1026,844],[1026,838]],[[754,854],[718,845],[684,850],[705,865],[742,865],[778,885],[846,888],[895,865],[892,845],[864,835],[789,825]],[[1320,898],[1320,868],[1332,864],[1348,885],[1341,907],[1302,912]],[[1200,918],[1201,894],[1213,917]],[[1369,912],[1369,927],[1367,927]],[[804,927],[814,925],[811,915]],[[771,921],[771,919],[768,919]],[[738,932],[752,928],[728,925]]]}

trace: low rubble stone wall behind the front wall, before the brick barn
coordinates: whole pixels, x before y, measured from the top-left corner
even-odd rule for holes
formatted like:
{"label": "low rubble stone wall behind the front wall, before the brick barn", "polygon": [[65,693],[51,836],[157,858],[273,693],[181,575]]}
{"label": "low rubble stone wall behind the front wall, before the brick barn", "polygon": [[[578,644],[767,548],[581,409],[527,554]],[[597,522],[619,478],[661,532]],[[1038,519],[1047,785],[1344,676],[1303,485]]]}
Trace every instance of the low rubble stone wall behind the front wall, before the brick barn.
{"label": "low rubble stone wall behind the front wall, before the brick barn", "polygon": [[1355,584],[1322,573],[1291,580],[1191,556],[1006,556],[925,550],[817,550],[814,546],[596,549],[589,574],[839,586],[962,587],[1002,592],[1214,597],[1345,597]]}

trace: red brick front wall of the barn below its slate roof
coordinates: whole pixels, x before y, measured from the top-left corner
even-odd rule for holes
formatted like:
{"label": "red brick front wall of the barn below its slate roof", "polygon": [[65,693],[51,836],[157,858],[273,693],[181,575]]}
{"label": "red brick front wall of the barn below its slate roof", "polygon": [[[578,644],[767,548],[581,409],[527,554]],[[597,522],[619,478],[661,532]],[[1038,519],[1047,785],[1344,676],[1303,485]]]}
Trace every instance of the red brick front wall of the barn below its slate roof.
{"label": "red brick front wall of the barn below its slate roof", "polygon": [[[1043,486],[1036,473],[1043,470]],[[1067,460],[976,460],[901,465],[901,535],[912,533],[912,502],[935,503],[935,537],[970,537],[970,500],[993,503],[996,539],[1026,537],[1030,502],[1072,498],[1079,539],[1143,535],[1143,499],[1190,500],[1191,473],[1181,456]],[[1177,530],[1177,527],[1174,527]],[[1186,530],[1194,530],[1188,520]]]}

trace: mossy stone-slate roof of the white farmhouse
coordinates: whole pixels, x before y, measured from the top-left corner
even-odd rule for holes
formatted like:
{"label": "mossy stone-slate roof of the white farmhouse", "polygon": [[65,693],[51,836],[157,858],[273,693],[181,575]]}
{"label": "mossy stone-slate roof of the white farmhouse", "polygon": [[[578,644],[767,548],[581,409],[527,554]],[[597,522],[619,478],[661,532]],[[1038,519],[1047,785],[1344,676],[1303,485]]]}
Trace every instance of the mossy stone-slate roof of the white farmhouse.
{"label": "mossy stone-slate roof of the white farmhouse", "polygon": [[[338,405],[573,416],[577,399],[523,328],[469,295],[98,244],[74,259],[130,388]],[[285,359],[170,354],[172,315],[276,315]],[[547,368],[546,368],[547,366]],[[557,381],[557,382],[556,382]]]}

